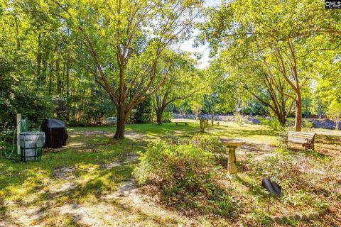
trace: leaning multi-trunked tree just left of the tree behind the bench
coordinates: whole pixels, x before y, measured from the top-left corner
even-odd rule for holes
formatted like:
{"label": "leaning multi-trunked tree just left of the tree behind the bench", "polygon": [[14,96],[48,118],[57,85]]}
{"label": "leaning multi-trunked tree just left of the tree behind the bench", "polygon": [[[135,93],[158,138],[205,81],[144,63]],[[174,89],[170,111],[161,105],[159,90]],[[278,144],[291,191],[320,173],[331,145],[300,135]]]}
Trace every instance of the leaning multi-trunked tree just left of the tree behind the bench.
{"label": "leaning multi-trunked tree just left of the tree behind the bench", "polygon": [[274,113],[278,123],[284,128],[286,118],[293,109],[291,87],[268,64],[243,54],[242,52],[249,50],[247,45],[243,49],[239,45],[238,50],[222,51],[218,58],[219,62],[224,62],[222,67],[229,74],[230,82],[238,87],[238,96],[243,99],[248,98],[248,94],[254,96]]}

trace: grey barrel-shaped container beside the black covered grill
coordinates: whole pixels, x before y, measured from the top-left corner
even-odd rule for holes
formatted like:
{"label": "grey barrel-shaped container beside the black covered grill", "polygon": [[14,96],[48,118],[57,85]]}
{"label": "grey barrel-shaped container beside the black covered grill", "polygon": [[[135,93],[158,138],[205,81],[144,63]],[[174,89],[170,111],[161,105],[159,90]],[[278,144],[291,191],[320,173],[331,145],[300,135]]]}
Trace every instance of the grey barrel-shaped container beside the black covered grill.
{"label": "grey barrel-shaped container beside the black covered grill", "polygon": [[21,161],[38,161],[43,155],[44,132],[24,132],[19,134]]}

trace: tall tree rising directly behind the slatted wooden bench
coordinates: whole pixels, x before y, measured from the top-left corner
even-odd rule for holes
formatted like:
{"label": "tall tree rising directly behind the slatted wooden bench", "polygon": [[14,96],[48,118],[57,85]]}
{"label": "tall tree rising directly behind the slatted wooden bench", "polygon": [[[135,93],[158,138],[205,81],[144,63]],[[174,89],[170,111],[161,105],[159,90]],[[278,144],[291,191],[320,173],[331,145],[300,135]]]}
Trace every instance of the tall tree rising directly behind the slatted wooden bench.
{"label": "tall tree rising directly behind the slatted wooden bench", "polygon": [[199,40],[209,41],[212,50],[242,47],[242,54],[261,62],[269,74],[280,75],[292,90],[285,95],[295,102],[295,128],[301,131],[301,87],[310,79],[305,67],[310,53],[339,47],[340,13],[308,0],[299,6],[293,0],[224,2],[208,12]]}

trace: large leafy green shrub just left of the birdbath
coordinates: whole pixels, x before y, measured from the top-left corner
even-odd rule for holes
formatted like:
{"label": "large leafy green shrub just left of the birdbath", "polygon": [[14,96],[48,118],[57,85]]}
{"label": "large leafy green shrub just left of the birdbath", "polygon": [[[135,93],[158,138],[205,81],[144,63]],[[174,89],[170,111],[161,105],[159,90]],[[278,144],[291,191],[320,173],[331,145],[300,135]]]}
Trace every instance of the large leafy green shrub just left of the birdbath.
{"label": "large leafy green shrub just left of the birdbath", "polygon": [[153,143],[141,155],[134,175],[140,184],[156,186],[166,204],[228,216],[236,205],[229,196],[232,189],[223,183],[224,170],[215,164],[216,140],[205,148],[202,143],[196,138]]}

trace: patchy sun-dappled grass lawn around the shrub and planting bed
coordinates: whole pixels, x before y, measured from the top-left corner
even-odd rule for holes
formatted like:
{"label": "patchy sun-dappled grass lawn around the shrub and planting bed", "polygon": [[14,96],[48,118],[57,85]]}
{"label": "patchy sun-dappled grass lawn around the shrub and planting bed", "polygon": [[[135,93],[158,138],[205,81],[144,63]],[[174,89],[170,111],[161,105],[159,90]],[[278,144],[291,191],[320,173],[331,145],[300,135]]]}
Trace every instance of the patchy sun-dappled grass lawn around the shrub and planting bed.
{"label": "patchy sun-dappled grass lawn around the shrub and planting bed", "polygon": [[[191,137],[200,134],[198,123],[193,122],[188,126],[175,126],[175,123],[162,126],[128,124],[124,140],[112,139],[114,126],[67,130],[67,146],[45,150],[41,162],[22,163],[4,157],[0,159],[0,226],[273,225],[266,218],[267,200],[259,185],[261,176],[254,176],[250,165],[261,162],[262,157],[276,154],[274,150],[279,135],[276,131],[265,126],[237,126],[234,123],[208,128],[207,133],[212,135],[247,140],[247,144],[237,150],[240,171],[233,178],[236,192],[241,195],[241,202],[245,205],[240,207],[242,211],[239,211],[238,217],[221,218],[181,215],[175,208],[160,204],[157,196],[141,192],[131,175],[138,163],[136,153],[143,152],[148,143],[169,135]],[[297,151],[286,155],[299,155],[311,162],[332,163],[330,167],[334,168],[337,163],[340,164],[340,137],[323,136],[318,144],[324,146],[318,145],[318,149],[321,148],[324,155],[313,151]],[[331,155],[328,153],[329,148]],[[341,179],[333,189],[335,192],[339,190],[335,198],[299,192],[295,194],[301,196],[299,198],[274,200],[270,215],[300,210],[303,213],[310,212],[318,206],[330,205],[325,204],[330,199],[334,201],[330,205],[331,214],[326,214],[313,224],[324,226],[327,220],[328,225],[335,223],[337,226],[341,224],[340,214],[335,216],[332,212],[340,208],[340,182]],[[287,224],[310,226],[312,223]]]}

